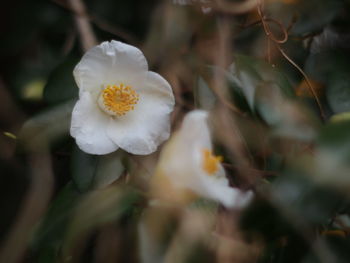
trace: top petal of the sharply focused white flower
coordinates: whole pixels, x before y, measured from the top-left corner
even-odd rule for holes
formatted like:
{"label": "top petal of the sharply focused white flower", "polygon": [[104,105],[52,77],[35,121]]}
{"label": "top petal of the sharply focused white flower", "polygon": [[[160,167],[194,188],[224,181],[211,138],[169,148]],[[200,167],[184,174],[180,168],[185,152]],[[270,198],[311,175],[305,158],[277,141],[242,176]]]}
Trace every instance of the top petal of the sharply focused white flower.
{"label": "top petal of the sharply focused white flower", "polygon": [[80,89],[95,93],[101,85],[143,83],[147,70],[146,58],[138,48],[112,40],[88,50],[73,74]]}

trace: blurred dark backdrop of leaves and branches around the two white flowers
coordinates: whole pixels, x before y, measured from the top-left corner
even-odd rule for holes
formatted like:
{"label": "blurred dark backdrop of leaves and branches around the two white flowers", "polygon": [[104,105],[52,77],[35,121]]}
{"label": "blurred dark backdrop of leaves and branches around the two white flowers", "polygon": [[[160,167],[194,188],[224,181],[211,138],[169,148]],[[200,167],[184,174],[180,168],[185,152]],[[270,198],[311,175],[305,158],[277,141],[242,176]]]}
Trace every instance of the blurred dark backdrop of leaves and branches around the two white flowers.
{"label": "blurred dark backdrop of leaves and branches around the two white flowers", "polygon": [[[349,14],[348,0],[2,3],[0,262],[349,262]],[[169,81],[173,130],[215,116],[248,207],[150,206],[159,152],[78,149],[72,71],[112,39]]]}

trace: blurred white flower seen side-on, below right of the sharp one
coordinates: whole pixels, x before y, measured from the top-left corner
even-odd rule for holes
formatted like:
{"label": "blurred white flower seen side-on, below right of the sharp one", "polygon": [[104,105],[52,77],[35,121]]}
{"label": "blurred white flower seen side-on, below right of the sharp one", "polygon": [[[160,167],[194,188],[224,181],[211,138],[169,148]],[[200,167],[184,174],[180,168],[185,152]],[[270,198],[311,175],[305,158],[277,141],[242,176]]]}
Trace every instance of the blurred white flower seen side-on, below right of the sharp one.
{"label": "blurred white flower seen side-on, below right of the sharp one", "polygon": [[[155,192],[173,200],[188,199],[187,193],[182,196],[176,194],[181,189],[187,189],[227,207],[245,206],[253,194],[229,186],[221,164],[222,157],[215,156],[212,152],[207,118],[208,113],[201,110],[192,111],[185,116],[180,130],[161,152],[152,182]],[[169,183],[171,187],[168,186]]]}

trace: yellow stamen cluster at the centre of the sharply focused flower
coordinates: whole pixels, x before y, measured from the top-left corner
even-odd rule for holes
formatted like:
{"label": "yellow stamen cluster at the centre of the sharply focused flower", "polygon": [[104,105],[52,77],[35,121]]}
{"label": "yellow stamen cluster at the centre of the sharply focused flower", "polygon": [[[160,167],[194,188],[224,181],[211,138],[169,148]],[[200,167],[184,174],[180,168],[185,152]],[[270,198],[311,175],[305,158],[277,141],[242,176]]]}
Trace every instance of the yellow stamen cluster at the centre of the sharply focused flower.
{"label": "yellow stamen cluster at the centre of the sharply focused flower", "polygon": [[100,108],[113,116],[123,116],[134,109],[139,101],[139,94],[130,86],[107,85],[98,99]]}

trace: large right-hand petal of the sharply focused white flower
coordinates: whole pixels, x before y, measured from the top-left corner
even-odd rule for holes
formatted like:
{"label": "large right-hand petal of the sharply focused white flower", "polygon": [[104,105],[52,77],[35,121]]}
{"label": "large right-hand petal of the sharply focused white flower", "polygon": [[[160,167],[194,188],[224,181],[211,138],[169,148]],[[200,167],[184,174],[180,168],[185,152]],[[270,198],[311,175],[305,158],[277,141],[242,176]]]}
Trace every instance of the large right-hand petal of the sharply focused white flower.
{"label": "large right-hand petal of the sharply focused white flower", "polygon": [[122,149],[133,154],[150,154],[169,138],[169,114],[174,107],[174,95],[168,82],[154,72],[148,72],[145,87],[139,91],[135,110],[111,120],[108,136]]}

